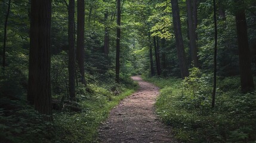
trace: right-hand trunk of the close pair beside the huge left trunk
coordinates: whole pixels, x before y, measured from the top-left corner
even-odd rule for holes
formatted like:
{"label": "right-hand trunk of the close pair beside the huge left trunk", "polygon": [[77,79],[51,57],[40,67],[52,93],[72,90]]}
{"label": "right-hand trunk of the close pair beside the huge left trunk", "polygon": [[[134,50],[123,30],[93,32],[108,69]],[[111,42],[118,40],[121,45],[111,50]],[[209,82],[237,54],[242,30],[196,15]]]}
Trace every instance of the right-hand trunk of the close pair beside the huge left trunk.
{"label": "right-hand trunk of the close pair beside the huge left trunk", "polygon": [[84,67],[84,45],[85,45],[85,1],[78,0],[78,41],[76,46],[76,60],[81,74],[81,83],[85,85],[85,67]]}

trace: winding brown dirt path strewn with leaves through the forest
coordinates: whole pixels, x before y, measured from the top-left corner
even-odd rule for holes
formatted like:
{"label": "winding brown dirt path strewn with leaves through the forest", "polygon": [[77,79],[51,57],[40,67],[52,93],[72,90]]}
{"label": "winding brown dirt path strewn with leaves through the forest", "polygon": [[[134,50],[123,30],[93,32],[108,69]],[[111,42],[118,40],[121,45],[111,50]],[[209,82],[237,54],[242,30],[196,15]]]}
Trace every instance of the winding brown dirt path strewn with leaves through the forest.
{"label": "winding brown dirt path strewn with leaves through the forest", "polygon": [[162,143],[177,142],[171,138],[170,129],[156,117],[154,104],[159,88],[133,76],[140,88],[125,98],[110,112],[109,119],[99,130],[101,142]]}

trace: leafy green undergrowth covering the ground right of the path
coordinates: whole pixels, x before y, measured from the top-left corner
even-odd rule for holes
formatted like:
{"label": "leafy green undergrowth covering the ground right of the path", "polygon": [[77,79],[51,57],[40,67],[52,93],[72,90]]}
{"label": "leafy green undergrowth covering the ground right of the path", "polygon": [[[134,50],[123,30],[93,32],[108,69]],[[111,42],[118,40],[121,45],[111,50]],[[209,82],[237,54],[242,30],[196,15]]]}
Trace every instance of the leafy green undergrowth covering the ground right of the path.
{"label": "leafy green undergrowth covering the ground right of the path", "polygon": [[211,108],[212,77],[190,69],[185,79],[143,77],[161,88],[156,110],[183,142],[256,142],[255,92],[242,94],[239,77],[219,78]]}

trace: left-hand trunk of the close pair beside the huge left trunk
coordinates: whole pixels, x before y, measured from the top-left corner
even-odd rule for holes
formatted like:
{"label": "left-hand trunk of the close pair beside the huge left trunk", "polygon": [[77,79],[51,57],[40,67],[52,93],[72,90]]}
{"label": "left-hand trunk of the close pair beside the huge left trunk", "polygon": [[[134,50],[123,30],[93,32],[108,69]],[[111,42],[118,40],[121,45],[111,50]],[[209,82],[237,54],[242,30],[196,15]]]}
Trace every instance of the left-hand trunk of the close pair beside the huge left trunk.
{"label": "left-hand trunk of the close pair beside the huge left trunk", "polygon": [[69,97],[75,100],[75,0],[69,0]]}

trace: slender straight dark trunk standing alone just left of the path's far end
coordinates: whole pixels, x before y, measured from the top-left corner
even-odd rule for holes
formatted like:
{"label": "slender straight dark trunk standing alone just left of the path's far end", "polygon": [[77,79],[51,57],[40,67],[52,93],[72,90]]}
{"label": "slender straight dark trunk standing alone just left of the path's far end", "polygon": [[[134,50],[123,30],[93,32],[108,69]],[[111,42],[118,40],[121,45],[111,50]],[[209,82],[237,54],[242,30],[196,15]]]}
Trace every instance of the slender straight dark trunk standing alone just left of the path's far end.
{"label": "slender straight dark trunk standing alone just left of the path's far end", "polygon": [[119,72],[120,72],[120,37],[121,37],[121,0],[118,2],[118,27],[116,30],[116,82],[119,83]]}

